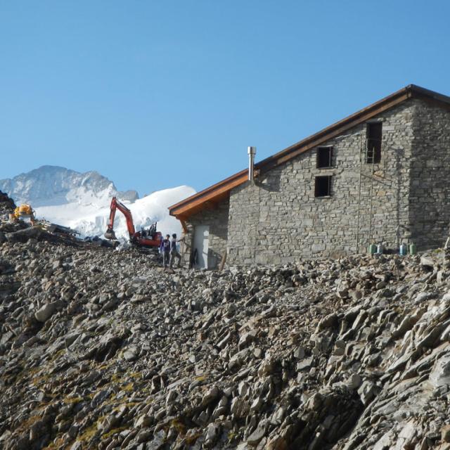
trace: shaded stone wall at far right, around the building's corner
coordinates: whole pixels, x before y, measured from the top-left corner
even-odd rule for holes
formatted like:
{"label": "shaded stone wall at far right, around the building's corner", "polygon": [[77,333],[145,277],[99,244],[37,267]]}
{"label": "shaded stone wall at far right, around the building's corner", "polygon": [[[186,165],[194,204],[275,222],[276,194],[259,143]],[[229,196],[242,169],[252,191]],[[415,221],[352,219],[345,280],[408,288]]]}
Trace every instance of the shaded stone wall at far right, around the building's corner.
{"label": "shaded stone wall at far right, around the building's corner", "polygon": [[450,224],[450,111],[416,101],[409,215],[418,250],[442,247]]}

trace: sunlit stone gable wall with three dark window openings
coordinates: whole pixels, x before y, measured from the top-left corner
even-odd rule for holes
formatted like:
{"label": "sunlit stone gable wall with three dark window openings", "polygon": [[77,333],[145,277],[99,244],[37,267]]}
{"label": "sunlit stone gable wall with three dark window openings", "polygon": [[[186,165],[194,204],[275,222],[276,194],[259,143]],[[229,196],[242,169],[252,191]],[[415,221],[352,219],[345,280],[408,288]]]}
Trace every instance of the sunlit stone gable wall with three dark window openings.
{"label": "sunlit stone gable wall with three dark window openings", "polygon": [[[336,257],[365,252],[370,242],[397,248],[411,234],[409,159],[416,106],[406,101],[376,118],[383,121],[380,164],[360,164],[366,142],[361,124],[323,144],[333,146],[332,168],[316,169],[313,149],[262,174],[255,184],[234,188],[228,264]],[[329,197],[314,197],[319,175],[332,175]]]}

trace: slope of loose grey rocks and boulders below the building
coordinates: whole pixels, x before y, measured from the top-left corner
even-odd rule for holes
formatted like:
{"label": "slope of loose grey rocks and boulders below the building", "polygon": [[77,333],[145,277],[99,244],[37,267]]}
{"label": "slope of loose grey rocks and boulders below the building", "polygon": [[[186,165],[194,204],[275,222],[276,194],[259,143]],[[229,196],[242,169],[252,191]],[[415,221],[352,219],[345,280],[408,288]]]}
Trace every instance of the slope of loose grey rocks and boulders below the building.
{"label": "slope of loose grey rocks and boulders below the building", "polygon": [[450,449],[450,260],[163,271],[0,244],[0,448]]}

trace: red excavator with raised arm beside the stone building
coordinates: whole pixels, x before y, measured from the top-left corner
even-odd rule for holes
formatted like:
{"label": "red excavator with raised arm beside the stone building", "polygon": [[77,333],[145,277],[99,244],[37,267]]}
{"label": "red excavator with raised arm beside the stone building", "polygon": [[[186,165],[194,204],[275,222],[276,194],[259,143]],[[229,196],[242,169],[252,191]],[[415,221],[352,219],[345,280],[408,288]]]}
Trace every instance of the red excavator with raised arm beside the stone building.
{"label": "red excavator with raised arm beside the stone building", "polygon": [[153,247],[158,248],[161,244],[162,234],[160,231],[156,231],[156,222],[150,226],[150,229],[142,231],[136,231],[134,229],[133,217],[131,216],[131,211],[123,204],[120,203],[117,198],[113,197],[111,200],[111,209],[110,209],[110,221],[108,224],[108,229],[105,233],[105,238],[109,240],[116,240],[114,233],[114,218],[115,218],[115,210],[119,210],[124,214],[125,219],[127,219],[127,229],[129,233],[129,241],[133,245],[137,245],[138,247]]}

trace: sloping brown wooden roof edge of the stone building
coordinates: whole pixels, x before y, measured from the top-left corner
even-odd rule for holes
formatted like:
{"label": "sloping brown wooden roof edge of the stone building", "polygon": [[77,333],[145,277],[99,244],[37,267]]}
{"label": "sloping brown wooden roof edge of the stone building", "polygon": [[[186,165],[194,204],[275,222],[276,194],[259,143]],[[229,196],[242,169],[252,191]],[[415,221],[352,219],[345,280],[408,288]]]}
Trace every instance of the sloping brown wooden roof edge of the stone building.
{"label": "sloping brown wooden roof edge of the stone building", "polygon": [[[377,101],[372,105],[349,115],[348,117],[345,117],[345,119],[330,125],[330,127],[322,129],[316,134],[312,134],[306,139],[295,143],[293,146],[285,148],[275,155],[269,156],[269,158],[257,162],[255,164],[255,176],[282,165],[285,162],[296,158],[298,155],[320,146],[322,143],[325,143],[330,139],[340,136],[343,132],[355,127],[356,125],[364,123],[367,120],[370,120],[390,108],[393,108],[399,103],[406,101],[408,98],[421,98],[424,101],[428,101],[429,103],[450,110],[450,97],[424,89],[414,84],[409,84],[409,86],[394,92],[394,94],[391,94],[390,96],[382,98],[380,101]],[[169,213],[178,219],[185,220],[196,212],[214,208],[217,203],[220,203],[222,200],[229,197],[231,189],[245,183],[247,179],[248,169],[243,169],[240,172],[229,176],[229,178],[219,181],[219,183],[203,189],[203,191],[191,195],[191,197],[172,205],[169,207]]]}

